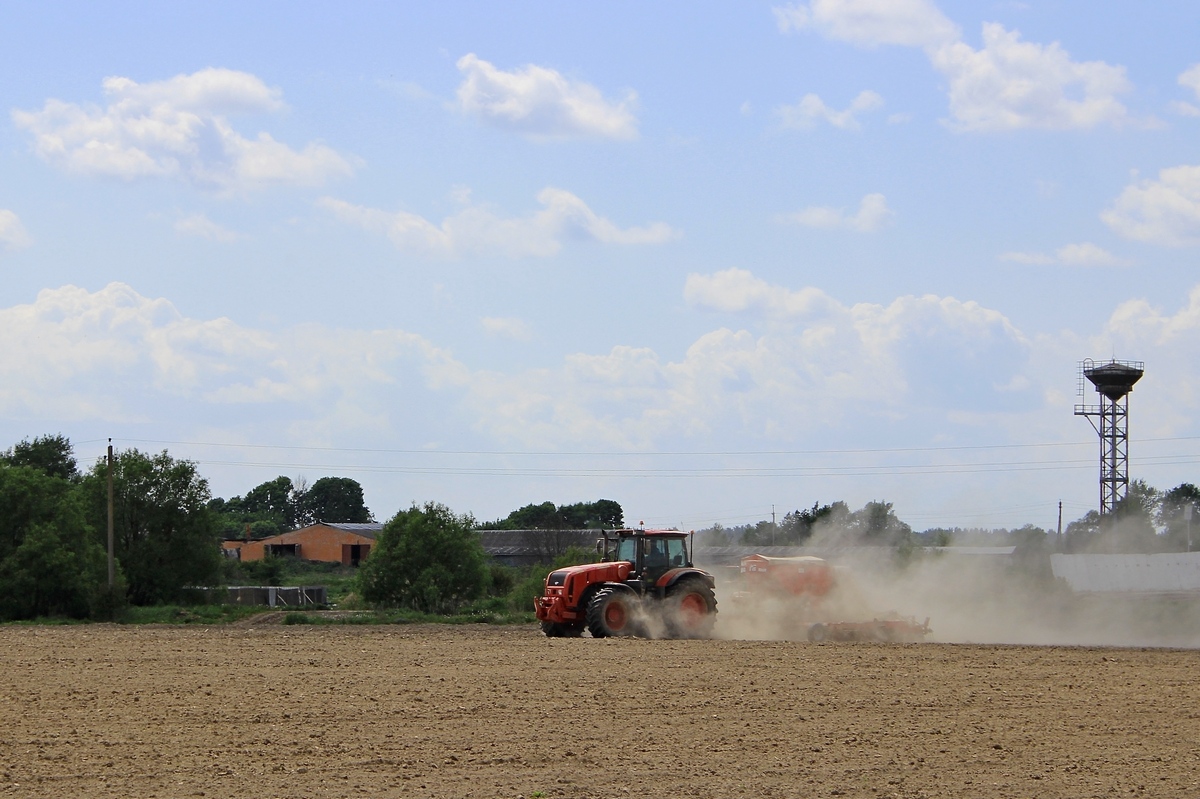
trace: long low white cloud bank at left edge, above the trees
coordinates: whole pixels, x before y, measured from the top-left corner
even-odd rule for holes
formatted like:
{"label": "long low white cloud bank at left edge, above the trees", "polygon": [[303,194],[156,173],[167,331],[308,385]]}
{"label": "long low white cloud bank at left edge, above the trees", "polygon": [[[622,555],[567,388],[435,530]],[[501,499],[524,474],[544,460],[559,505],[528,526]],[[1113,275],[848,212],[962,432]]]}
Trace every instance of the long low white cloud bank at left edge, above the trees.
{"label": "long low white cloud bank at left edge, above the trees", "polygon": [[[276,404],[305,417],[385,407],[398,384],[461,383],[461,367],[420,336],[301,325],[274,334],[184,317],[166,299],[112,283],[47,289],[0,310],[0,413],[61,420],[157,417],[193,408]],[[209,413],[216,413],[215,410]]]}

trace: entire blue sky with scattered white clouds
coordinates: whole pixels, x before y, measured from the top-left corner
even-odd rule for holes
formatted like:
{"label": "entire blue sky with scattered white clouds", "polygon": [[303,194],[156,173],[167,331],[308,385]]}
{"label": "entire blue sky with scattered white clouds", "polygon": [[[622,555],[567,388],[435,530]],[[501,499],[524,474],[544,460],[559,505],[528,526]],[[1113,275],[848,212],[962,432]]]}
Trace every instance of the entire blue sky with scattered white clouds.
{"label": "entire blue sky with scattered white clouds", "polygon": [[0,0],[0,447],[700,529],[1200,482],[1200,6]]}

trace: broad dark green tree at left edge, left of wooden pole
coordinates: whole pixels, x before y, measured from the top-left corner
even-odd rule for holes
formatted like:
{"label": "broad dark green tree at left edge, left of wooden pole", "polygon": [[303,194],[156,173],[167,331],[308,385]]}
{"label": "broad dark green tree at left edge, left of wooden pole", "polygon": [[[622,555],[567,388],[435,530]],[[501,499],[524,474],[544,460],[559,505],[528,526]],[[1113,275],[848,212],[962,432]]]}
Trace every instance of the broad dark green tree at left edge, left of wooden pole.
{"label": "broad dark green tree at left edge, left of wooden pole", "polygon": [[85,618],[107,591],[104,551],[65,477],[0,464],[0,619]]}

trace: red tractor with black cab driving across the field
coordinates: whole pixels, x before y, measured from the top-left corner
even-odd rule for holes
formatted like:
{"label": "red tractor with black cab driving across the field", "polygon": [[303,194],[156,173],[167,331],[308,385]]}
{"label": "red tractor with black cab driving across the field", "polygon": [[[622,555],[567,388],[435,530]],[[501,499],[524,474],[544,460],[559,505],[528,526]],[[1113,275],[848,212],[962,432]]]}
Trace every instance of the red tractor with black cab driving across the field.
{"label": "red tractor with black cab driving across the field", "polygon": [[552,638],[666,636],[707,638],[716,620],[715,581],[691,565],[689,534],[613,530],[596,541],[600,563],[546,576],[534,600],[541,630]]}

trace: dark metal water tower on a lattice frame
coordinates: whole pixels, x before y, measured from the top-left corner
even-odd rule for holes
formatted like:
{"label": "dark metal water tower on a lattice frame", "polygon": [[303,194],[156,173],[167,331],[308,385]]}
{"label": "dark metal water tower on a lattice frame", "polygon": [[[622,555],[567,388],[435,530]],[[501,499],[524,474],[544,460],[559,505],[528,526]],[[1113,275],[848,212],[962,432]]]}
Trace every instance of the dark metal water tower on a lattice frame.
{"label": "dark metal water tower on a lattice frame", "polygon": [[[1097,365],[1092,359],[1079,364],[1079,396],[1084,396],[1084,378],[1100,395],[1098,405],[1075,405],[1076,416],[1087,416],[1100,434],[1100,515],[1111,513],[1129,488],[1129,392],[1141,379],[1141,361],[1111,360]],[[1096,423],[1099,416],[1100,423]]]}

